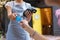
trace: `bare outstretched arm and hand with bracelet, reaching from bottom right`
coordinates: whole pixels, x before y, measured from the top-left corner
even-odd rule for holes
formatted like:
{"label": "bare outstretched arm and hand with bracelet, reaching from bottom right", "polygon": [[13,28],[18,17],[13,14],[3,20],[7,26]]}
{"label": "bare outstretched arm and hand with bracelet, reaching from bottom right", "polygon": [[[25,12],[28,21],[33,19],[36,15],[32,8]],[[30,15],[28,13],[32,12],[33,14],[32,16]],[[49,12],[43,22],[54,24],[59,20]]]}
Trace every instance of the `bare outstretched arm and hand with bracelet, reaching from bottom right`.
{"label": "bare outstretched arm and hand with bracelet, reaching from bottom right", "polygon": [[25,29],[27,32],[30,33],[31,37],[33,37],[35,40],[48,40],[45,36],[38,34],[36,31],[34,31],[29,25],[26,20],[22,21],[22,27]]}

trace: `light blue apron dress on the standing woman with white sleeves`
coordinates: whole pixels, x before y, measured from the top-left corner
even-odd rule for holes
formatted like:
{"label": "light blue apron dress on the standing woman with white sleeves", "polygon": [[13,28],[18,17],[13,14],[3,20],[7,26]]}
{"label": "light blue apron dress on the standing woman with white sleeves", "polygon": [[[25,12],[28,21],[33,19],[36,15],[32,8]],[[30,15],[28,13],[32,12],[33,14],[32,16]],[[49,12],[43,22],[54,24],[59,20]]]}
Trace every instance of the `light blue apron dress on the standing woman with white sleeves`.
{"label": "light blue apron dress on the standing woman with white sleeves", "polygon": [[[19,14],[20,16],[23,16],[23,12],[27,8],[29,8],[28,5],[25,2],[18,5],[18,3],[16,3],[15,1],[12,1],[11,2],[12,12]],[[15,39],[25,40],[26,37],[29,38],[29,33],[26,32],[18,22],[10,20],[10,23],[8,25],[8,31],[7,31],[7,40],[15,40]]]}

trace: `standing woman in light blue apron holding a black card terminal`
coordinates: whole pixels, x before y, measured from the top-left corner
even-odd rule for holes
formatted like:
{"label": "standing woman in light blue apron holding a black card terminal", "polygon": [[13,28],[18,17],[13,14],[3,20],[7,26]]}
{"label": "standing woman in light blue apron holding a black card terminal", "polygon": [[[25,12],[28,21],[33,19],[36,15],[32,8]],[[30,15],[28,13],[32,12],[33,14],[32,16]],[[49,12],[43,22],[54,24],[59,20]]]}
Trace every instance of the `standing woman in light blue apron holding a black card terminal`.
{"label": "standing woman in light blue apron holding a black card terminal", "polygon": [[[31,8],[29,3],[24,2],[23,0],[15,0],[7,2],[5,5],[10,23],[8,25],[8,31],[6,34],[6,40],[30,40],[30,35],[21,27],[21,23],[16,22],[16,14],[23,16],[23,12],[27,8]],[[27,12],[26,20],[29,22],[31,19],[31,12]]]}

